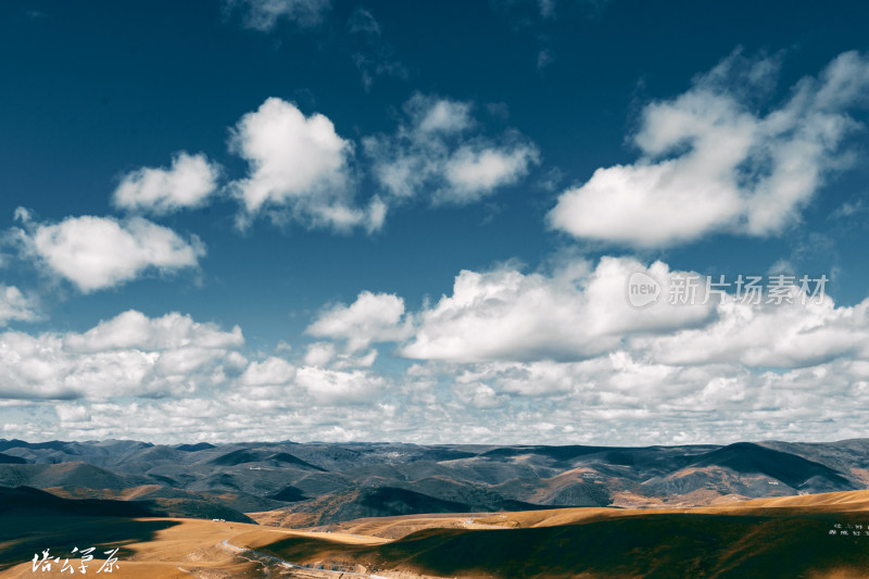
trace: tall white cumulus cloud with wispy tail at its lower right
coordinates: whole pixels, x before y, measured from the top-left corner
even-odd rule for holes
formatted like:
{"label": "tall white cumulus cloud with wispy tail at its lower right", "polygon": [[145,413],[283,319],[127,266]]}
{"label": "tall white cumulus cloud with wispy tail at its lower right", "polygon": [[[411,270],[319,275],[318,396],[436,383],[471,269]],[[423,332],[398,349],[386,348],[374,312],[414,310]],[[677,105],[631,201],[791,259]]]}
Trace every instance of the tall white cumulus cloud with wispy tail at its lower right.
{"label": "tall white cumulus cloud with wispy tail at its lower right", "polygon": [[353,143],[322,114],[306,117],[292,103],[267,99],[241,117],[230,148],[250,165],[250,175],[231,186],[244,209],[241,225],[263,210],[273,210],[273,218],[339,230],[382,223],[375,202],[369,214],[353,204]]}

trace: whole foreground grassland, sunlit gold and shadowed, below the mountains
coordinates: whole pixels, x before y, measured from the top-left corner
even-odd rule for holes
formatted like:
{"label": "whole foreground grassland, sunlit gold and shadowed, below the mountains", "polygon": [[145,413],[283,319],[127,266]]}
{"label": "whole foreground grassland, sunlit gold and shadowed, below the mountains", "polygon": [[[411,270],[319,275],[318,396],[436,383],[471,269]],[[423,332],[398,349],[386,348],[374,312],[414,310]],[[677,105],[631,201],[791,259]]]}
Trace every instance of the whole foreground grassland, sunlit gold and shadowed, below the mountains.
{"label": "whole foreground grassland, sunlit gold and shadowed, below the mountains", "polygon": [[[225,547],[225,541],[293,563],[339,562],[392,577],[869,577],[869,537],[828,534],[835,524],[869,524],[869,491],[694,508],[383,517],[332,526],[336,532],[265,526],[285,520],[274,512],[250,515],[264,525],[172,518],[2,519],[7,530],[0,536],[0,553],[12,562],[0,567],[0,577],[66,577],[56,565],[51,572],[35,575],[30,558],[47,547],[65,557],[73,543],[99,551],[122,547],[113,577],[265,576],[262,564]],[[100,564],[91,562],[88,572],[96,575]]]}

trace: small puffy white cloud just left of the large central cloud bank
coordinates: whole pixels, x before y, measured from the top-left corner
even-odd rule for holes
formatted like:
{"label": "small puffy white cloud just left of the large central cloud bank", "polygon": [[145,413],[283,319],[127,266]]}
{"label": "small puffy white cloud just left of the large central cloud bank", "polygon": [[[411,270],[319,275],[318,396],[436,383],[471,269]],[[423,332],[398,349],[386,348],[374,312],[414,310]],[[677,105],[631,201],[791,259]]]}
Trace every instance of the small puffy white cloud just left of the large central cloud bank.
{"label": "small puffy white cloud just left of the large central cloud bank", "polygon": [[352,304],[320,313],[305,331],[317,338],[347,340],[348,351],[356,352],[371,342],[401,340],[410,329],[403,316],[404,300],[398,295],[363,291]]}

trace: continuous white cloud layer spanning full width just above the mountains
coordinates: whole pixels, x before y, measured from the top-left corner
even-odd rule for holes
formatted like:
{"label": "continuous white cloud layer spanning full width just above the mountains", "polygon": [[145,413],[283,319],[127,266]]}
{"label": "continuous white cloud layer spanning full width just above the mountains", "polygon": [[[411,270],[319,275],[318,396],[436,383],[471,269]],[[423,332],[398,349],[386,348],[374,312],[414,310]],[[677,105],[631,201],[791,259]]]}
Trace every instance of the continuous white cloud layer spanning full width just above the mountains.
{"label": "continuous white cloud layer spanning full width just above the mountains", "polygon": [[[241,328],[177,313],[129,311],[81,333],[7,331],[3,405],[23,421],[5,432],[33,436],[27,416],[48,412],[41,437],[158,441],[857,435],[853,425],[869,415],[859,403],[869,391],[869,300],[726,297],[635,310],[625,285],[638,270],[688,274],[630,257],[462,272],[450,295],[415,312],[387,293],[329,305],[307,330],[320,341],[299,353],[254,352]],[[389,343],[416,362],[376,364],[370,347]]]}

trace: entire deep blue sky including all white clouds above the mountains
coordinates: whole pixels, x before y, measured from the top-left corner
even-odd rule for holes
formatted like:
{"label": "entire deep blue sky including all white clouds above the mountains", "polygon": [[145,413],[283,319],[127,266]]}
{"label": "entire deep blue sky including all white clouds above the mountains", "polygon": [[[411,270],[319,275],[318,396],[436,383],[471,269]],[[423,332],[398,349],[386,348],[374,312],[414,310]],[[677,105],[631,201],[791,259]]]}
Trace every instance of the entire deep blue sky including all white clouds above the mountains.
{"label": "entire deep blue sky including all white clouds above the mountains", "polygon": [[864,436],[868,11],[5,2],[0,437]]}

